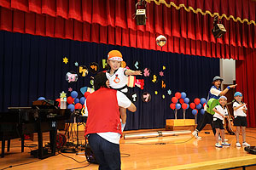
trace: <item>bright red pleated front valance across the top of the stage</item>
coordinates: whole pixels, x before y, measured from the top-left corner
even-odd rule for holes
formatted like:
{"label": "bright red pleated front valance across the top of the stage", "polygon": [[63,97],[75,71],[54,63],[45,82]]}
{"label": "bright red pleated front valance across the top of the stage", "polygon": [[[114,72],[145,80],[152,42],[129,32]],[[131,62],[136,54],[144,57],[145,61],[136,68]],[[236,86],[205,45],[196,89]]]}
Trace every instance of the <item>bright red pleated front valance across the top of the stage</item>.
{"label": "bright red pleated front valance across the top of the stage", "polygon": [[[241,20],[256,20],[256,2],[251,0],[244,0],[242,3],[233,0],[172,0],[172,2],[177,5],[183,3],[195,9],[201,8],[202,11],[233,15],[235,18],[240,17]],[[177,10],[174,7],[167,8],[165,4],[157,5],[151,2],[147,6],[147,25],[136,26],[135,20],[132,19],[135,3],[136,1],[125,0],[2,0],[0,6],[18,9],[29,14],[47,14],[55,19],[87,22],[91,25],[98,24],[125,30],[149,31],[169,37],[189,38],[195,41],[216,42],[211,33],[212,17],[209,14],[195,14],[192,11],[187,12],[184,8]],[[166,3],[170,3],[170,0]],[[234,47],[256,48],[255,25],[247,25],[247,22],[242,24],[232,19],[223,19],[223,23],[228,32],[223,38],[218,39],[219,43],[231,44]]]}

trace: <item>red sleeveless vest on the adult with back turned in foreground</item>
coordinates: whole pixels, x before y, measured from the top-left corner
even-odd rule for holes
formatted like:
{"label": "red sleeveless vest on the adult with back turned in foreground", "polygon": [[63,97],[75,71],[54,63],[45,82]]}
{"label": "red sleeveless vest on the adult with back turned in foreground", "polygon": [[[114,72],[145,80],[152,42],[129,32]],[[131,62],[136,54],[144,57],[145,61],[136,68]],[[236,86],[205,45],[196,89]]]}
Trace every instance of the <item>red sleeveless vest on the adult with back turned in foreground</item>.
{"label": "red sleeveless vest on the adult with back turned in foreground", "polygon": [[100,88],[88,95],[88,119],[84,135],[106,132],[122,134],[116,92],[114,89]]}

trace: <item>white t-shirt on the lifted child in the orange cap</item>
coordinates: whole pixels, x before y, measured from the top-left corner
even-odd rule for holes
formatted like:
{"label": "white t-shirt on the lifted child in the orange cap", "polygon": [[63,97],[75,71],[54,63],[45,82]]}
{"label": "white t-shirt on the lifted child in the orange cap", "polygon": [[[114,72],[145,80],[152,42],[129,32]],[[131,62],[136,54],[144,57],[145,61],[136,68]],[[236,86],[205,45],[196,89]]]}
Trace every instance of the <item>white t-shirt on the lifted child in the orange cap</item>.
{"label": "white t-shirt on the lifted child in the orange cap", "polygon": [[[127,85],[128,83],[128,77],[125,76],[125,71],[127,69],[123,68],[123,67],[119,67],[119,69],[117,71],[115,71],[113,73],[113,75],[110,75],[109,72],[106,72],[106,76],[109,80],[109,85],[111,88],[113,89],[118,89],[118,88],[123,88]],[[125,93],[128,92],[124,91]]]}

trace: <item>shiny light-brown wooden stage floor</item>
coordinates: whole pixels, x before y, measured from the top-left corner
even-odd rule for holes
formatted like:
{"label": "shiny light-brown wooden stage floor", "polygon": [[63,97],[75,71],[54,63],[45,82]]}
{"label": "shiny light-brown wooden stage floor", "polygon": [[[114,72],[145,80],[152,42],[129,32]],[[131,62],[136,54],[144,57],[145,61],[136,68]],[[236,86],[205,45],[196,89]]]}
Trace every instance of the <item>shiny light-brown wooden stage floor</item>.
{"label": "shiny light-brown wooden stage floor", "polygon": [[[133,131],[132,133],[143,132]],[[156,132],[156,130],[154,131]],[[229,139],[230,147],[222,149],[215,148],[215,140],[212,132],[210,134],[200,133],[202,139],[191,139],[191,134],[179,136],[148,138],[148,139],[121,139],[120,151],[122,160],[122,169],[224,169],[229,167],[238,167],[242,165],[256,164],[256,155],[247,154],[241,148],[236,148],[235,135],[226,135]],[[210,132],[209,130],[207,132]],[[131,133],[126,131],[125,133]],[[80,133],[80,139],[83,133]],[[44,135],[44,141],[48,139],[47,134]],[[256,145],[256,128],[247,128],[247,143]],[[30,140],[26,140],[26,144],[37,144]],[[20,153],[20,140],[11,140],[10,152],[6,152],[4,158],[0,158],[0,169],[71,169],[75,167],[84,167],[88,162],[78,163],[66,157],[70,156],[77,161],[84,161],[84,154],[67,154],[62,156],[52,156],[44,160],[38,160],[30,156],[30,148],[25,148],[24,153]],[[34,150],[34,148],[32,148]],[[26,164],[28,163],[28,164]],[[19,165],[20,166],[15,166]],[[95,170],[96,164],[90,164],[88,167],[79,169]],[[242,168],[236,168],[242,169]],[[246,169],[256,169],[256,167],[248,167]]]}

